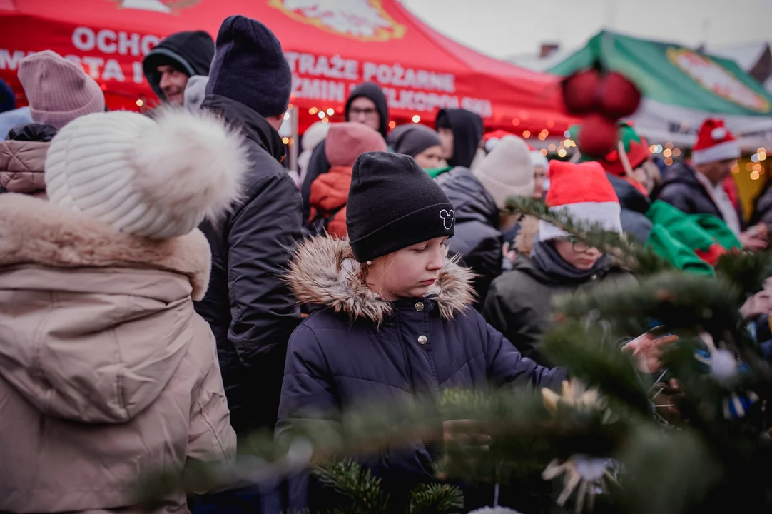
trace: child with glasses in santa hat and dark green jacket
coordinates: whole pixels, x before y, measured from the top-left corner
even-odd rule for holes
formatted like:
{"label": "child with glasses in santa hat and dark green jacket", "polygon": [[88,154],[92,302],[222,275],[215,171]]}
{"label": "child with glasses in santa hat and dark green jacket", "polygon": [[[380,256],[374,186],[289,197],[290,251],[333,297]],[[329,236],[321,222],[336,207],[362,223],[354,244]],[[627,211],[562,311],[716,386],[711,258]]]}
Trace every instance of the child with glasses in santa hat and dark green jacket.
{"label": "child with glasses in santa hat and dark green jacket", "polygon": [[[619,200],[598,162],[551,161],[546,202],[550,211],[569,213],[574,223],[599,223],[604,230],[622,233]],[[519,254],[513,270],[491,284],[482,315],[523,356],[549,364],[538,345],[554,326],[554,296],[601,282],[634,280],[598,248],[542,220],[530,255]]]}

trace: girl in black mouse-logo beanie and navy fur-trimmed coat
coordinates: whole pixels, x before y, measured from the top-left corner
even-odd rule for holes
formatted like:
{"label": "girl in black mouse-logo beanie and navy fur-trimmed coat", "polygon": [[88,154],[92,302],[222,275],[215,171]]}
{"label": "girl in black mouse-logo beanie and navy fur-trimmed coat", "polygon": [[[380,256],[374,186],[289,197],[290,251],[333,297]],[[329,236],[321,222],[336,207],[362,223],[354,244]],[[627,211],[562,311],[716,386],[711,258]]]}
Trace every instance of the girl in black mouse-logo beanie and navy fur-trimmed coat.
{"label": "girl in black mouse-logo beanie and navy fur-trimmed coat", "polygon": [[[350,241],[308,240],[290,267],[298,301],[320,308],[289,339],[277,436],[299,424],[340,427],[342,411],[372,400],[560,386],[564,369],[523,358],[469,308],[472,274],[446,259],[453,206],[411,157],[360,155],[347,206]],[[432,448],[418,441],[362,461],[394,498],[432,479]],[[308,506],[307,494],[307,477],[293,480],[289,511]]]}

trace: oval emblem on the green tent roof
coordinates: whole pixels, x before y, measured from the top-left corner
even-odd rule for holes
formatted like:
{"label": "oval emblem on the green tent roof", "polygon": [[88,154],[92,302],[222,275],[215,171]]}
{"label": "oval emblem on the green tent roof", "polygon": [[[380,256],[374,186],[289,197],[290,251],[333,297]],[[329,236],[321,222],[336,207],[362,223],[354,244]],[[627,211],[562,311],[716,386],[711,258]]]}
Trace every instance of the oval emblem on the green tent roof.
{"label": "oval emblem on the green tent roof", "polygon": [[696,83],[734,104],[758,112],[769,112],[770,101],[744,84],[715,60],[686,48],[669,48],[668,60]]}

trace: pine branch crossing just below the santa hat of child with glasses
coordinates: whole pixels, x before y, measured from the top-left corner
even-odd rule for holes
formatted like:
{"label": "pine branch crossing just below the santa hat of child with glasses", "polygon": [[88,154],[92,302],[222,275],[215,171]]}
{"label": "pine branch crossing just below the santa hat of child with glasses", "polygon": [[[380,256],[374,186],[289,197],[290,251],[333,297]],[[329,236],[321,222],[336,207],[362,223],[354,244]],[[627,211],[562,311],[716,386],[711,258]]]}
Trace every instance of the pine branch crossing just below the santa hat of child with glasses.
{"label": "pine branch crossing just below the santa hat of child with glasses", "polygon": [[577,240],[596,247],[614,257],[618,263],[638,274],[652,274],[671,270],[672,265],[654,250],[630,242],[618,233],[604,230],[600,224],[580,223],[565,211],[552,212],[540,199],[510,197],[507,208],[512,213],[523,213],[551,223],[571,233]]}

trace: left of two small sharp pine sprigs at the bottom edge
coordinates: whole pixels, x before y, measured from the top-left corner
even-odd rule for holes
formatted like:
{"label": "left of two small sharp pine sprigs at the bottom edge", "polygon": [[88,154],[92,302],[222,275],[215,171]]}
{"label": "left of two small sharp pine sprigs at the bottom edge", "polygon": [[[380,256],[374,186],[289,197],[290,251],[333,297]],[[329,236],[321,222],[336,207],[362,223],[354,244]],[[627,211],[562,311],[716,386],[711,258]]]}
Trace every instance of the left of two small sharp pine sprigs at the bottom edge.
{"label": "left of two small sharp pine sprigs at the bottom edge", "polygon": [[316,468],[320,482],[344,496],[349,514],[386,514],[388,495],[381,489],[381,478],[362,469],[356,461],[331,462]]}

